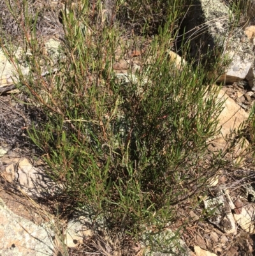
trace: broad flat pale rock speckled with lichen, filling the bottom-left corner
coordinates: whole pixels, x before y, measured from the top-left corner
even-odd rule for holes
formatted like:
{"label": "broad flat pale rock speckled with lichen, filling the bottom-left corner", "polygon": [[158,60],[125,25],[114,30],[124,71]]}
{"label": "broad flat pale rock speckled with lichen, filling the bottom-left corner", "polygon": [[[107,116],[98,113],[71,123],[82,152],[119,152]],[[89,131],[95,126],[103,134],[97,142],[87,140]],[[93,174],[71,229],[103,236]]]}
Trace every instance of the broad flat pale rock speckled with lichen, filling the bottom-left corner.
{"label": "broad flat pale rock speckled with lichen, filling the bottom-left corner", "polygon": [[0,199],[0,255],[52,256],[47,230],[15,215]]}

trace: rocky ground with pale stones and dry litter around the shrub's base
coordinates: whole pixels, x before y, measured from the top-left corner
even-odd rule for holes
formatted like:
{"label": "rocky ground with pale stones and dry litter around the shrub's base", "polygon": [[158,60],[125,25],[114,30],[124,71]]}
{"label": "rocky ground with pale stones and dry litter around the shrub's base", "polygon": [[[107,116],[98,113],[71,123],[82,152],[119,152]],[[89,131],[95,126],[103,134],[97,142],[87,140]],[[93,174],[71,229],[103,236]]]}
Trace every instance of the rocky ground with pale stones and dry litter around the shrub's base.
{"label": "rocky ground with pale stones and dry litter around the shrub's base", "polygon": [[[41,22],[43,26],[43,20]],[[252,28],[248,31],[252,31]],[[249,37],[251,34],[245,35],[250,41],[254,39],[254,33],[253,37]],[[140,50],[130,50],[123,59],[116,59],[114,69],[117,75],[125,77],[130,65],[142,68],[140,55]],[[184,60],[174,52],[170,52],[170,59],[176,61],[180,70],[180,63]],[[4,57],[0,56],[0,60],[1,68]],[[55,193],[59,184],[45,176],[47,166],[26,132],[33,121],[38,122],[43,117],[40,117],[38,110],[26,104],[29,103],[27,96],[13,91],[8,80],[10,70],[6,73],[3,71],[0,84],[0,254],[142,255],[142,246],[130,241],[129,237],[122,238],[121,243],[119,241],[119,245],[122,245],[122,252],[119,252],[117,245],[113,245],[105,236],[101,236],[101,240],[92,236],[89,223],[74,218],[73,213],[66,213],[65,207],[70,202]],[[247,77],[237,81],[233,81],[232,73],[229,77],[231,80],[225,81],[221,90],[221,96],[226,100],[221,116],[222,132],[245,121],[255,101]],[[222,137],[208,143],[211,152],[224,146]],[[240,154],[239,149],[240,146],[237,146],[235,154]],[[255,255],[254,170],[251,156],[246,155],[240,167],[229,166],[212,179],[207,197],[198,199],[201,203],[196,208],[180,207],[179,222],[171,230],[178,229],[189,220],[181,236],[189,247],[185,255]],[[45,188],[49,187],[47,197],[42,196]],[[212,211],[216,206],[214,215],[207,219],[200,218],[203,209]]]}

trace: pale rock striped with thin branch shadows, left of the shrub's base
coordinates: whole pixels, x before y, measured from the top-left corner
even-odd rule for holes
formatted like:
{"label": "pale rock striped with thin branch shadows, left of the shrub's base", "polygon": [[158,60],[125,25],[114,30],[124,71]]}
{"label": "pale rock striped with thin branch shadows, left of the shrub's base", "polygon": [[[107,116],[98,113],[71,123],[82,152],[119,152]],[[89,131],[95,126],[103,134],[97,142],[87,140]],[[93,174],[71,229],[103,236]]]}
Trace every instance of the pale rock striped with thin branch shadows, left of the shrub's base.
{"label": "pale rock striped with thin branch shadows, left of the shrub's base", "polygon": [[59,185],[26,158],[18,163],[17,186],[29,197],[47,197],[61,191]]}

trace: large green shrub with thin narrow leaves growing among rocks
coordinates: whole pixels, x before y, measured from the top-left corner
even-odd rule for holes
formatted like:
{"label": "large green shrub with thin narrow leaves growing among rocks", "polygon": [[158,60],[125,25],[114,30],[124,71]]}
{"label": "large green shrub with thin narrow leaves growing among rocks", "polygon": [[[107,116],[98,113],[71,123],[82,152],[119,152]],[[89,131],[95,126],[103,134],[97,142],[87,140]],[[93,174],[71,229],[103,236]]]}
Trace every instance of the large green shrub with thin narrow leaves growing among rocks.
{"label": "large green shrub with thin narrow leaves growing among rocks", "polygon": [[[195,195],[224,165],[222,153],[205,160],[222,106],[216,100],[219,88],[212,86],[215,77],[205,86],[203,67],[186,64],[177,70],[166,54],[177,35],[173,24],[184,11],[180,1],[170,2],[140,70],[116,75],[115,49],[123,56],[128,51],[125,34],[104,22],[101,1],[96,6],[84,1],[66,4],[63,11],[60,72],[40,76],[42,52],[34,37],[26,42],[31,74],[20,75],[24,93],[46,119],[35,122],[29,136],[43,151],[52,177],[65,184],[73,207],[89,206],[111,229],[125,227],[137,239],[149,227],[156,234],[177,220],[177,206],[187,199],[195,204]],[[152,6],[157,11],[164,4]],[[31,22],[26,17],[33,35]],[[50,72],[50,61],[44,61]]]}

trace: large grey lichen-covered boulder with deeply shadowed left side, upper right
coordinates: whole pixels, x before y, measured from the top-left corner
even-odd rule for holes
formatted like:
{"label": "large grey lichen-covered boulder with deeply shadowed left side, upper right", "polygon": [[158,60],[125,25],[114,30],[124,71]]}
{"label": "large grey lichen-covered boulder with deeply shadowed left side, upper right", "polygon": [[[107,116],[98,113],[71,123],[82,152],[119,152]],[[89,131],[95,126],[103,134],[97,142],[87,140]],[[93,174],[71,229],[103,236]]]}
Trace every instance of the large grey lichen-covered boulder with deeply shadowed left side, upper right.
{"label": "large grey lichen-covered boulder with deeply shadowed left side, upper right", "polygon": [[[249,39],[241,27],[233,29],[229,17],[231,10],[224,1],[197,0],[189,9],[183,26],[186,38],[191,40],[189,55],[194,59],[207,56],[209,51],[214,57],[222,54],[231,60],[224,73],[219,74],[218,82],[232,83],[247,79],[254,87],[254,54]],[[205,58],[203,61],[208,61]]]}

